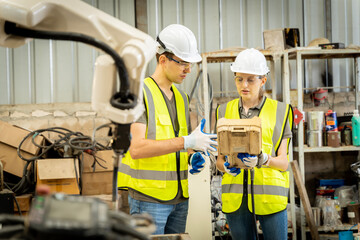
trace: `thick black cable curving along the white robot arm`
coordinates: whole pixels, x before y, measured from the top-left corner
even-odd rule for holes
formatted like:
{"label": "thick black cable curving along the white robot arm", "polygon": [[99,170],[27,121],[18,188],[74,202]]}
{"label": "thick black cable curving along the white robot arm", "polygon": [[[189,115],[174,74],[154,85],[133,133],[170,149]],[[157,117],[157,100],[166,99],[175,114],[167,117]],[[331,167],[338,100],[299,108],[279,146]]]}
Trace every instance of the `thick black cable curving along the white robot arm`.
{"label": "thick black cable curving along the white robot arm", "polygon": [[120,79],[120,91],[117,92],[114,96],[112,96],[110,100],[111,105],[119,109],[130,109],[134,108],[137,105],[137,97],[134,94],[130,93],[129,90],[129,75],[125,67],[125,63],[119,56],[119,54],[106,43],[81,33],[32,30],[18,27],[15,23],[8,21],[5,21],[4,31],[6,34],[12,34],[26,38],[82,42],[103,50],[105,53],[109,54],[114,59]]}

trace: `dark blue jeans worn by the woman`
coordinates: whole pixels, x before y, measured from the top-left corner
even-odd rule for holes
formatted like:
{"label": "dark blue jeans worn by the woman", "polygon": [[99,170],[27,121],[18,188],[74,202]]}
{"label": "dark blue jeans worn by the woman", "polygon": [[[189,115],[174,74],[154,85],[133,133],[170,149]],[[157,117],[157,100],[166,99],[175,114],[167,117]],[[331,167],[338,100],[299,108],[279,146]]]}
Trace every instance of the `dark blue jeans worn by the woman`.
{"label": "dark blue jeans worn by the woman", "polygon": [[[247,197],[243,197],[241,207],[230,214],[226,214],[232,239],[256,239],[254,230],[254,218],[248,209]],[[256,209],[256,205],[255,205]],[[260,221],[264,240],[287,239],[287,211],[286,209],[269,215],[256,215]]]}

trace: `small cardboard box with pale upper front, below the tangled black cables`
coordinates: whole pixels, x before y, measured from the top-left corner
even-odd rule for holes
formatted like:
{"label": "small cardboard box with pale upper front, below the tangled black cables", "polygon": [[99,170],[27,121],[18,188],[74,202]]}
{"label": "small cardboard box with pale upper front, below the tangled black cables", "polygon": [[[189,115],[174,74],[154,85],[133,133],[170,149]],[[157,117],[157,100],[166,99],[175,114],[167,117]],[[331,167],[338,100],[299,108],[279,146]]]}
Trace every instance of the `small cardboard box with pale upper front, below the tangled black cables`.
{"label": "small cardboard box with pale upper front, below the tangled black cables", "polygon": [[78,176],[78,178],[80,176],[77,160],[75,160],[75,164],[74,158],[49,158],[37,160],[36,162],[36,185],[49,185],[51,192],[80,194],[76,179],[76,176]]}

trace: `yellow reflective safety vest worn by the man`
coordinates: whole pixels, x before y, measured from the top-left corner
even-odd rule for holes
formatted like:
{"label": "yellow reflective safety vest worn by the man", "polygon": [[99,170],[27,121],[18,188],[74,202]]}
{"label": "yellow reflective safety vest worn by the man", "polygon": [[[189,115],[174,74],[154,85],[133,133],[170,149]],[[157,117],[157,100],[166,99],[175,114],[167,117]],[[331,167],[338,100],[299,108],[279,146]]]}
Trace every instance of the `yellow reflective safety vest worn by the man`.
{"label": "yellow reflective safety vest worn by the man", "polygon": [[[144,80],[146,105],[146,138],[163,140],[188,135],[189,101],[187,95],[174,85],[179,132],[175,133],[163,94],[152,78]],[[177,157],[177,155],[179,157]],[[177,163],[179,161],[179,163]],[[178,166],[177,166],[178,165]],[[188,193],[188,154],[186,150],[151,158],[132,159],[127,152],[118,175],[120,189],[131,188],[160,201],[170,201],[178,193],[180,180],[183,196]]]}

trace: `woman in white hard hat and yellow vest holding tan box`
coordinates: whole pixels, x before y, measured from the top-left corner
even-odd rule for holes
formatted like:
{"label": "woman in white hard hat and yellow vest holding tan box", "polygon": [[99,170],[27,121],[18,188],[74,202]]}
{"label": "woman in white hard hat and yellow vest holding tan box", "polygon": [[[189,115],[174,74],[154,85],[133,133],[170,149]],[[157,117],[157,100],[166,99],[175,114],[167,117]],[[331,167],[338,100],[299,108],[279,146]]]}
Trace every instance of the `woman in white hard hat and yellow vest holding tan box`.
{"label": "woman in white hard hat and yellow vest holding tan box", "polygon": [[216,118],[260,117],[262,153],[259,156],[238,154],[238,158],[251,169],[250,174],[248,169],[229,167],[227,157],[218,156],[216,166],[225,172],[222,210],[226,213],[233,239],[258,238],[256,220],[260,221],[264,239],[287,239],[288,146],[292,137],[292,109],[288,104],[264,96],[263,86],[269,69],[260,51],[242,51],[231,65],[231,71],[235,74],[240,98],[220,105]]}

